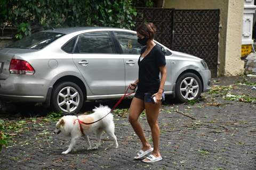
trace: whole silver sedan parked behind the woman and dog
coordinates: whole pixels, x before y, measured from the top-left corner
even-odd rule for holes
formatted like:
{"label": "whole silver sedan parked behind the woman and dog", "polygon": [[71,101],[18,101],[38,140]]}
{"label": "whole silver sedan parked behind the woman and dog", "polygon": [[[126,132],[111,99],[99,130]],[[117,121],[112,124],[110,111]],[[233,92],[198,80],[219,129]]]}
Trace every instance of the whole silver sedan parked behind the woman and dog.
{"label": "whole silver sedan parked behind the woman and dog", "polygon": [[[197,99],[210,90],[201,58],[155,41],[166,56],[165,94]],[[138,79],[141,46],[135,31],[77,27],[45,30],[0,50],[0,99],[78,113],[86,100],[119,98]]]}

